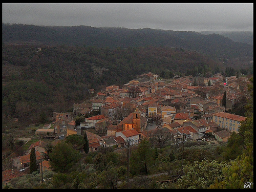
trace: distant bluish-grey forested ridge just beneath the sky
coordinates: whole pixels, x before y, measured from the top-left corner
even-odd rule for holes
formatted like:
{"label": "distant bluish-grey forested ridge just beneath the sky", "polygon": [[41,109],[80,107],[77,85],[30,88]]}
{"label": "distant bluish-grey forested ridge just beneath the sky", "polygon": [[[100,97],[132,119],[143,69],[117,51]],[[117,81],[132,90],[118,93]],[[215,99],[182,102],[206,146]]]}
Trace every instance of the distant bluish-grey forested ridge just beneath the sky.
{"label": "distant bluish-grey forested ridge just beneath the sky", "polygon": [[3,43],[30,41],[46,45],[113,48],[163,46],[195,50],[219,58],[253,57],[253,46],[219,34],[159,29],[96,28],[2,24]]}

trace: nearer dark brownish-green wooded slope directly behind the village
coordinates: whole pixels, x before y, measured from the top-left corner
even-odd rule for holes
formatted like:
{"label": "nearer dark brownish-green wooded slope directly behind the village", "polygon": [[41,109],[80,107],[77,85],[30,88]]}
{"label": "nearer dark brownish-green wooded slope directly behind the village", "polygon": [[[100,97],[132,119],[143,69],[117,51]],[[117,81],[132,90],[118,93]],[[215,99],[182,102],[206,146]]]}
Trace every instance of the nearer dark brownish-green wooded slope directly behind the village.
{"label": "nearer dark brownish-green wooded slope directly behind the village", "polygon": [[218,61],[197,52],[175,48],[2,48],[4,123],[9,118],[44,123],[44,116],[51,117],[53,111],[67,112],[73,103],[86,100],[88,89],[121,86],[145,72],[168,78],[166,72],[198,75],[214,73],[218,66]]}

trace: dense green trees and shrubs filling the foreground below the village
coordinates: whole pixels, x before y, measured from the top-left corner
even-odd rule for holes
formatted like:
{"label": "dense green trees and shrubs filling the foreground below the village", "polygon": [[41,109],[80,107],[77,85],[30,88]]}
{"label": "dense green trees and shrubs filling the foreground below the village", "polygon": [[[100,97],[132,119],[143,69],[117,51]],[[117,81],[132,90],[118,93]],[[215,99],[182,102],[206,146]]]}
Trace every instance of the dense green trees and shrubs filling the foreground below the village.
{"label": "dense green trees and shrubs filling the foreground below the village", "polygon": [[[253,78],[250,80],[253,83]],[[247,119],[242,122],[240,133],[233,132],[227,143],[186,141],[183,147],[182,144],[167,142],[158,148],[152,138],[131,147],[130,161],[127,161],[127,148],[114,151],[114,147],[101,147],[97,152],[90,152],[81,158],[75,148],[82,144],[83,137],[75,139],[76,136],[68,136],[67,140],[48,151],[47,158],[50,158],[52,168],[58,171],[45,171],[43,177],[47,180],[43,184],[40,185],[41,177],[36,171],[12,179],[3,187],[244,188],[245,183],[253,183],[253,84],[249,91],[251,97],[246,104]],[[48,148],[51,147],[48,145]],[[55,163],[57,156],[61,163]],[[65,161],[67,156],[68,160]],[[72,161],[72,158],[75,160]],[[165,174],[149,177],[159,173]],[[253,188],[253,184],[250,187]]]}

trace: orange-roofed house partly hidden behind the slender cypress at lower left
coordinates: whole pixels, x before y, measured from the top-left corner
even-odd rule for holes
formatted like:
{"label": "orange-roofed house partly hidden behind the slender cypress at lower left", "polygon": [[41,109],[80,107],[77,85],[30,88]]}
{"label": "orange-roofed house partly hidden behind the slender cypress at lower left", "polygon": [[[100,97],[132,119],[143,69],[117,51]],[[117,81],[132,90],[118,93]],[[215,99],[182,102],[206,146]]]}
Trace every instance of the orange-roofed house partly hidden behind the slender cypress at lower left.
{"label": "orange-roofed house partly hidden behind the slender cypress at lower left", "polygon": [[[36,155],[36,163],[38,164],[39,162],[41,162],[40,159],[42,158],[42,156],[38,151],[35,152],[35,155]],[[30,164],[30,154],[13,158],[12,165],[17,169],[29,168],[29,164]]]}

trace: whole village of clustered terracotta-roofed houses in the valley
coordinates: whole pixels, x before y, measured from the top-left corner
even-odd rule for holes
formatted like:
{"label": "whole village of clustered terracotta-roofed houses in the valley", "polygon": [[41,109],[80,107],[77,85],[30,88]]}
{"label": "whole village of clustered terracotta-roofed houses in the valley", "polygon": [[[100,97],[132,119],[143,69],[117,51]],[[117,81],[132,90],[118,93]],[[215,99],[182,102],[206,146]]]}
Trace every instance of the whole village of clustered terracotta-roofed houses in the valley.
{"label": "whole village of clustered terracotta-roofed houses in the valley", "polygon": [[[159,134],[173,143],[184,140],[227,142],[232,132],[239,133],[241,121],[246,118],[228,112],[242,95],[246,95],[248,83],[247,77],[221,74],[209,78],[176,77],[166,81],[149,72],[138,75],[122,87],[112,85],[97,93],[90,89],[90,100],[74,103],[73,113],[54,112],[53,122],[37,129],[35,136],[54,142],[86,133],[89,153],[100,147],[118,149],[136,145],[142,139]],[[224,92],[226,108],[222,103]],[[97,114],[87,117],[93,112]],[[76,125],[77,117],[84,117],[79,125]],[[40,140],[31,144],[24,156],[13,158],[14,169],[8,170],[9,175],[18,176],[29,168],[32,147],[35,147],[39,170],[50,169],[49,161],[42,161],[41,157],[46,144]],[[79,152],[84,154],[83,148]]]}

